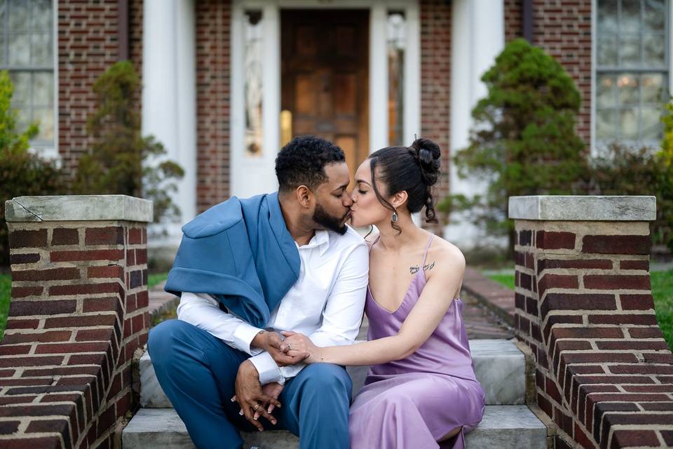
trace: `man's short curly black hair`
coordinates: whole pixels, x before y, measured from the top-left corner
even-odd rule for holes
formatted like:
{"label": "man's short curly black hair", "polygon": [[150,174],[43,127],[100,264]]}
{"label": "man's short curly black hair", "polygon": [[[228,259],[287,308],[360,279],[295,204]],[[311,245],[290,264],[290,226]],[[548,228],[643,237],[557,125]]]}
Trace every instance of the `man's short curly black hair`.
{"label": "man's short curly black hair", "polygon": [[345,161],[344,151],[329,140],[314,135],[299,135],[278,152],[278,187],[281,192],[287,192],[305,185],[315,191],[327,180],[325,166]]}

